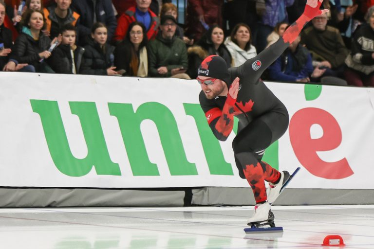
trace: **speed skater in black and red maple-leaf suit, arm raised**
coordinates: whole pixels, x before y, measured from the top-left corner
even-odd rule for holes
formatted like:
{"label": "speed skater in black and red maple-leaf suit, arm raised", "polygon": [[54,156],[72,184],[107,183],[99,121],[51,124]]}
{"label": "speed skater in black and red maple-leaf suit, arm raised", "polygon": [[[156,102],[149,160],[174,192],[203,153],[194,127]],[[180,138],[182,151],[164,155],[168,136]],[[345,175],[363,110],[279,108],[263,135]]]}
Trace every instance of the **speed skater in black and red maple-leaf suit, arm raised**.
{"label": "speed skater in black and red maple-leaf suit, arm raised", "polygon": [[[223,58],[210,55],[198,69],[200,105],[216,138],[225,141],[232,131],[234,116],[239,119],[232,147],[239,175],[248,181],[256,200],[255,213],[247,221],[250,226],[274,224],[270,204],[290,177],[287,171],[279,172],[262,161],[265,149],[287,130],[289,117],[286,107],[260,76],[298,37],[308,21],[328,11],[319,10],[321,3],[322,0],[307,0],[304,13],[283,36],[243,65],[227,70]],[[269,182],[268,193],[264,181]]]}

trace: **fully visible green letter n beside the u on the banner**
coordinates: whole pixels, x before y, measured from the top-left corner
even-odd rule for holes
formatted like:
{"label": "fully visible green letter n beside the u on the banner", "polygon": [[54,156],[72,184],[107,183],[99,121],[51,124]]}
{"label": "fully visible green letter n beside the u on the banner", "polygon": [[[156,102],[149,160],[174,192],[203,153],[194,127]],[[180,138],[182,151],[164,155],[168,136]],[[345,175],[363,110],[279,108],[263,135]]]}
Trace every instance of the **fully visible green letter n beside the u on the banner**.
{"label": "fully visible green letter n beside the u on the banner", "polygon": [[134,176],[159,175],[157,165],[149,160],[140,131],[140,124],[146,119],[157,126],[170,175],[197,175],[195,164],[187,161],[177,123],[168,107],[149,102],[138,107],[135,113],[131,104],[109,103],[108,106],[118,120]]}

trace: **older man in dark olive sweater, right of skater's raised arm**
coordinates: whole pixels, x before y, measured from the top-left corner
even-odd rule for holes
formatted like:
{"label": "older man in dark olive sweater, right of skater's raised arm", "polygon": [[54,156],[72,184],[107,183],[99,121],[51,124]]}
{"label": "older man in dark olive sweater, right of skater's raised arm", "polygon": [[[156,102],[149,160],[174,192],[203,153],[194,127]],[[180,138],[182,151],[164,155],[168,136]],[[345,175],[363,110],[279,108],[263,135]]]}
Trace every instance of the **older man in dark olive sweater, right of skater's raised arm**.
{"label": "older man in dark olive sweater, right of skater's raised arm", "polygon": [[301,43],[312,53],[313,66],[325,67],[322,76],[344,78],[344,60],[349,52],[339,30],[327,26],[326,13],[313,18],[312,24],[301,33]]}

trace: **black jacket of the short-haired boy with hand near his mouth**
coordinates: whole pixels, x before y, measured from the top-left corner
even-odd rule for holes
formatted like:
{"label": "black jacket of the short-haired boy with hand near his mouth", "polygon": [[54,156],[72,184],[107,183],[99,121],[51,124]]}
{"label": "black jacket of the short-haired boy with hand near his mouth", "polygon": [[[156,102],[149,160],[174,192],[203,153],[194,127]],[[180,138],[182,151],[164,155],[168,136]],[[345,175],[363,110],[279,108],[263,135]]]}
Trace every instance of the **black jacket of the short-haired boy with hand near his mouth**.
{"label": "black jacket of the short-haired boy with hand near his mouth", "polygon": [[[79,73],[84,48],[77,47],[74,50],[74,64],[76,73]],[[48,60],[48,64],[56,73],[73,73],[73,58],[70,53],[70,45],[59,45]]]}

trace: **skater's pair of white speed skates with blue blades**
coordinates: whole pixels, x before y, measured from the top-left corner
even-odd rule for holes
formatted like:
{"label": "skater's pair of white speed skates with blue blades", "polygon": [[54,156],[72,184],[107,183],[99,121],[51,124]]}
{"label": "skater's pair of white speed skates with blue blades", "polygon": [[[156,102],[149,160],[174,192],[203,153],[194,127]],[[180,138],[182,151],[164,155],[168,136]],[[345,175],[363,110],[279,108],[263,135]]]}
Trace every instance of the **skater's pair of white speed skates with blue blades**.
{"label": "skater's pair of white speed skates with blue blades", "polygon": [[[282,227],[276,227],[274,223],[274,214],[271,211],[271,205],[274,201],[281,195],[285,187],[288,183],[295,177],[295,175],[299,172],[300,167],[298,167],[292,175],[289,175],[287,171],[281,172],[281,180],[283,182],[282,185],[277,186],[272,185],[271,189],[269,186],[270,191],[268,192],[268,196],[271,196],[271,202],[259,203],[255,206],[255,213],[251,218],[248,219],[247,225],[250,228],[244,228],[245,233],[262,233],[262,232],[283,232]],[[269,227],[264,227],[269,226]]]}

